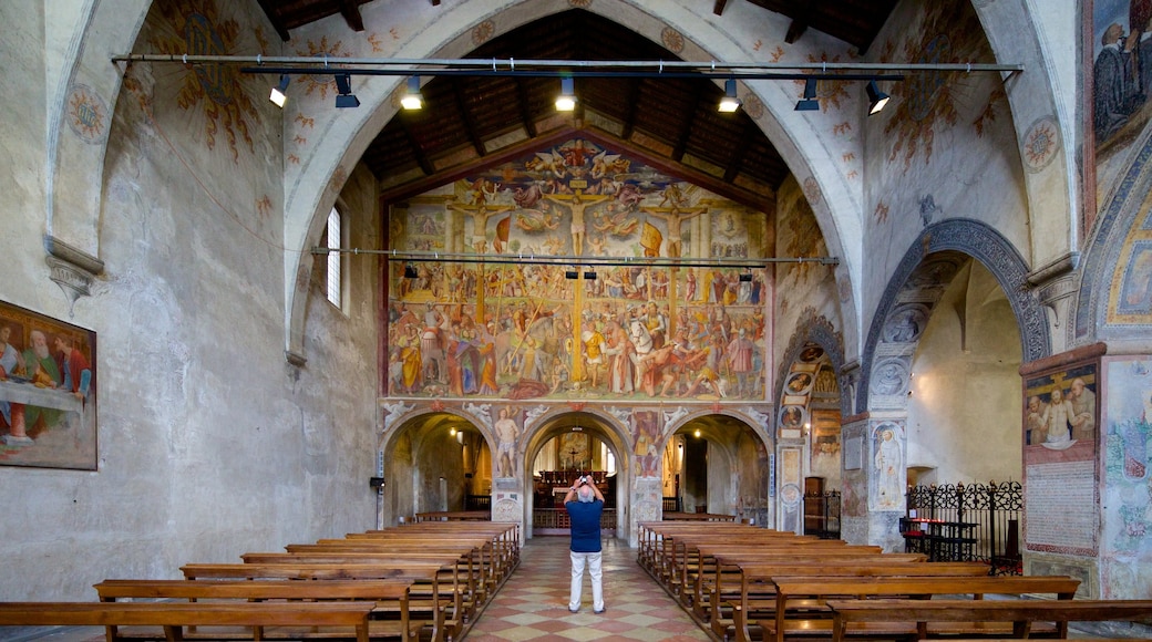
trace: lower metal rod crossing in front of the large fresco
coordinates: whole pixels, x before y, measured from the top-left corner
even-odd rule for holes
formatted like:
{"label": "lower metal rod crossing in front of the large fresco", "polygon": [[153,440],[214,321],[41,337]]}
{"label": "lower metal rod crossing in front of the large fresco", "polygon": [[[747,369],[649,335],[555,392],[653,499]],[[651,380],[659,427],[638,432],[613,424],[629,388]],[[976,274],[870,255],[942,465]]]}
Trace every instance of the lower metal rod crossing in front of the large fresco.
{"label": "lower metal rod crossing in front of the large fresco", "polygon": [[588,266],[588,267],[727,267],[727,268],[763,268],[767,263],[820,263],[838,266],[836,257],[748,257],[741,259],[717,258],[695,259],[691,257],[576,257],[536,254],[469,254],[445,252],[401,252],[396,250],[363,250],[359,247],[312,247],[312,254],[385,254],[394,261],[412,263],[523,263],[539,266]]}

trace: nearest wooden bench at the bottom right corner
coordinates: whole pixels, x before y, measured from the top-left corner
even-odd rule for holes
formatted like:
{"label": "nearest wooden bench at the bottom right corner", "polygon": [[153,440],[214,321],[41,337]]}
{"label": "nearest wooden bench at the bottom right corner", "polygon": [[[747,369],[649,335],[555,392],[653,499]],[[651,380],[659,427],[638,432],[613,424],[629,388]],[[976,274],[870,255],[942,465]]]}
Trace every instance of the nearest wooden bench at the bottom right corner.
{"label": "nearest wooden bench at the bottom right corner", "polygon": [[920,639],[954,635],[957,628],[968,632],[990,622],[1000,625],[995,628],[1011,625],[1013,637],[1029,637],[1041,621],[1054,625],[1062,637],[1070,621],[1152,624],[1149,599],[829,599],[827,605],[836,642],[850,637],[862,624],[911,625]]}

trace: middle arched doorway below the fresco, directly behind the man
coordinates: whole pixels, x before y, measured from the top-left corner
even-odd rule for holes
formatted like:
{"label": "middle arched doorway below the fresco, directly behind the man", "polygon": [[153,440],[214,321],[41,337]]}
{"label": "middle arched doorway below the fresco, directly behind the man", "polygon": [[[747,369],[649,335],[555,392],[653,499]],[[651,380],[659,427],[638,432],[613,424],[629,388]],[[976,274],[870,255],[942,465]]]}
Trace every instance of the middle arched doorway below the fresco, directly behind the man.
{"label": "middle arched doorway below the fresco, directly behind the man", "polygon": [[605,498],[606,536],[628,538],[631,469],[626,430],[593,412],[544,415],[525,436],[524,534],[567,535],[562,502],[577,476],[591,475]]}

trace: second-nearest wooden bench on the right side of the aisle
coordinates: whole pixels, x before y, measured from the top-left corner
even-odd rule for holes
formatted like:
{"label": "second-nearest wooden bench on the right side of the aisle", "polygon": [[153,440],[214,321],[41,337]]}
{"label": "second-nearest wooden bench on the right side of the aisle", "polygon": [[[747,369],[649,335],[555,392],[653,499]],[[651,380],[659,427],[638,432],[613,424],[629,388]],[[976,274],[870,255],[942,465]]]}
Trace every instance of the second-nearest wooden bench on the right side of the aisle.
{"label": "second-nearest wooden bench on the right side of the aisle", "polygon": [[[931,566],[927,564],[926,566]],[[832,634],[831,610],[826,602],[833,598],[855,599],[874,597],[918,597],[970,595],[973,599],[985,595],[1052,595],[1071,599],[1079,580],[1064,575],[1001,575],[985,578],[783,578],[773,579],[776,591],[774,618],[760,619],[764,639],[783,642],[785,636]],[[795,607],[791,602],[795,602]],[[791,616],[791,617],[789,617]],[[881,634],[867,624],[859,625],[867,634]],[[884,629],[884,635],[915,635],[911,632]],[[994,630],[982,627],[971,633],[955,630],[956,635],[991,635]],[[1010,629],[1008,630],[1010,633]],[[1060,637],[1068,636],[1068,624],[1058,624],[1055,630],[1044,632]]]}

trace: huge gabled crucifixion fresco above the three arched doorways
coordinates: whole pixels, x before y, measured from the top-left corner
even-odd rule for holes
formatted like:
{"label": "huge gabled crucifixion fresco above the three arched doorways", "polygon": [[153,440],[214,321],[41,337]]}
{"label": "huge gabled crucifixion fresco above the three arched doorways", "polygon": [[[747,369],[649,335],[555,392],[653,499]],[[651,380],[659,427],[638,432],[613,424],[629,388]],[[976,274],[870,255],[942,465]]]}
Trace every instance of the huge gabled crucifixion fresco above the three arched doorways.
{"label": "huge gabled crucifixion fresco above the three arched doorways", "polygon": [[484,261],[392,262],[389,393],[764,399],[770,275],[699,263],[763,258],[766,230],[582,138],[408,199],[392,249]]}

